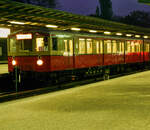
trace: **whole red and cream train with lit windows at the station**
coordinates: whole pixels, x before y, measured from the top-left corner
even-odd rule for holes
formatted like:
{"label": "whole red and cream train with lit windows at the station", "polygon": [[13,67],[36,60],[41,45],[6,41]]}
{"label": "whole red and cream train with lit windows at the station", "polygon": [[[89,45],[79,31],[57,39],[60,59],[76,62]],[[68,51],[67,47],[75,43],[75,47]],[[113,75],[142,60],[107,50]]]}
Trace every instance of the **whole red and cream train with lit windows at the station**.
{"label": "whole red and cream train with lit windows at the station", "polygon": [[8,38],[8,70],[20,80],[76,80],[150,67],[150,39],[59,30],[20,30]]}

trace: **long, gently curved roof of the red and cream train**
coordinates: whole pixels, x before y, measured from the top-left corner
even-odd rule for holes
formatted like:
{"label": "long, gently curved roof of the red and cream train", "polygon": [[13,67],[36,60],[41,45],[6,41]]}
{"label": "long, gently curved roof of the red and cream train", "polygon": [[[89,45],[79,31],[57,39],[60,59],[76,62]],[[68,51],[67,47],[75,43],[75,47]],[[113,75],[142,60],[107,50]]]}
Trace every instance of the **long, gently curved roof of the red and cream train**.
{"label": "long, gently curved roof of the red and cream train", "polygon": [[[136,37],[125,37],[125,36],[116,36],[116,35],[104,35],[104,34],[93,34],[87,32],[74,32],[74,31],[58,31],[58,30],[49,30],[49,29],[34,29],[34,30],[18,30],[13,32],[9,35],[15,36],[16,34],[27,34],[27,33],[41,33],[43,35],[51,37],[58,37],[58,38],[70,38],[70,37],[80,37],[80,38],[102,38],[102,39],[115,39],[115,40],[143,40],[143,38],[136,38]],[[38,34],[38,35],[39,35]],[[145,39],[150,40],[150,39]]]}

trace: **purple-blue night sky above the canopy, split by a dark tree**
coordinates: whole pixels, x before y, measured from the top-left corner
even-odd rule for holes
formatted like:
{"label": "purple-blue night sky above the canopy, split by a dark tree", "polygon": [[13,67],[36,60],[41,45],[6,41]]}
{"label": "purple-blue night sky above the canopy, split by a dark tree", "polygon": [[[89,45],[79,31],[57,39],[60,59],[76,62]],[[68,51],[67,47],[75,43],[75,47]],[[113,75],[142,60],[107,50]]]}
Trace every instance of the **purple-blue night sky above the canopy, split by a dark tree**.
{"label": "purple-blue night sky above the canopy, split by a dark tree", "polygon": [[[115,15],[125,16],[134,10],[150,12],[150,6],[137,2],[138,0],[112,0]],[[58,0],[61,10],[74,14],[88,15],[95,13],[98,0]]]}

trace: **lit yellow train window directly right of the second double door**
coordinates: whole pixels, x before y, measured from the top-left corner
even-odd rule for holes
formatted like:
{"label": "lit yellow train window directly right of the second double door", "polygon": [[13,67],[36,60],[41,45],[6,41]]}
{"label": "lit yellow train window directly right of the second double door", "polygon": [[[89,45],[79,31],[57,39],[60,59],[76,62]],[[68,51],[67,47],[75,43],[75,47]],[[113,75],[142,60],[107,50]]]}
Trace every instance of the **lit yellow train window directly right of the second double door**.
{"label": "lit yellow train window directly right of the second double door", "polygon": [[112,52],[111,40],[104,40],[104,52],[105,54],[111,54]]}

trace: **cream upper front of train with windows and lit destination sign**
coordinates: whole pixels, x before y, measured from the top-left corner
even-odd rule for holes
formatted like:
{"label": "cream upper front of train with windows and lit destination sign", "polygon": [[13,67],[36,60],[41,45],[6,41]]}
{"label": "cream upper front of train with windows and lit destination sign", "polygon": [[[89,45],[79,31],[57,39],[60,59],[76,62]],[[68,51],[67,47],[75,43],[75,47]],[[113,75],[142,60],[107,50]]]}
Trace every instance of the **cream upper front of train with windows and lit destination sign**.
{"label": "cream upper front of train with windows and lit destination sign", "polygon": [[48,51],[47,36],[33,34],[17,34],[9,40],[10,52],[44,52]]}

